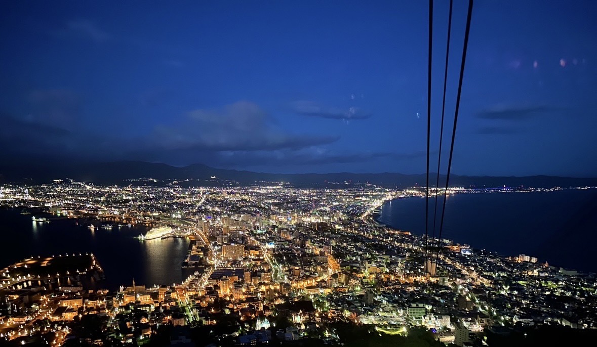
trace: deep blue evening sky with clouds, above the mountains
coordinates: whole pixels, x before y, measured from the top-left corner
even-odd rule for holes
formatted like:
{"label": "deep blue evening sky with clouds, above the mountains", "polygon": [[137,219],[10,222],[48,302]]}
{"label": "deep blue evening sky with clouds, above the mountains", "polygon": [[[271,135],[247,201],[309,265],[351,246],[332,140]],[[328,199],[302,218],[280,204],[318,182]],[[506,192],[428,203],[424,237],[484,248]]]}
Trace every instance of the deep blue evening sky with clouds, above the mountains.
{"label": "deep blue evening sky with clouds, above the mountains", "polygon": [[[2,2],[0,159],[425,171],[426,1],[175,3]],[[454,173],[597,176],[595,18],[589,1],[475,3]],[[456,0],[448,147],[465,20]]]}

